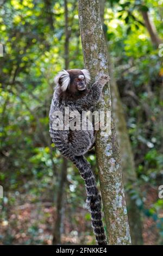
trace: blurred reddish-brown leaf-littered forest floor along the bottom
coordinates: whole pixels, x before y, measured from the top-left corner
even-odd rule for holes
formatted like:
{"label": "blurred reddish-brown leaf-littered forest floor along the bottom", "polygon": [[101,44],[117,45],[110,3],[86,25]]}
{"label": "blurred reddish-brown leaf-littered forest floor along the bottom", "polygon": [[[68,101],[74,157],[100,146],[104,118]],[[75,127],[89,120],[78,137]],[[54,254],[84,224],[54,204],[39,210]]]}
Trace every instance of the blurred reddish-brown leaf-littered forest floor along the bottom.
{"label": "blurred reddish-brown leaf-littered forest floor along the bottom", "polygon": [[[152,187],[147,189],[146,208],[150,208],[157,198]],[[26,195],[24,195],[26,197]],[[27,200],[26,200],[27,202]],[[55,223],[55,207],[51,202],[33,202],[10,205],[5,209],[5,219],[0,225],[0,245],[52,245],[53,224]],[[71,205],[66,206],[62,227],[62,244],[78,245],[95,244],[92,235],[89,214],[83,208],[71,212]],[[158,243],[158,229],[151,217],[143,218],[144,245]]]}

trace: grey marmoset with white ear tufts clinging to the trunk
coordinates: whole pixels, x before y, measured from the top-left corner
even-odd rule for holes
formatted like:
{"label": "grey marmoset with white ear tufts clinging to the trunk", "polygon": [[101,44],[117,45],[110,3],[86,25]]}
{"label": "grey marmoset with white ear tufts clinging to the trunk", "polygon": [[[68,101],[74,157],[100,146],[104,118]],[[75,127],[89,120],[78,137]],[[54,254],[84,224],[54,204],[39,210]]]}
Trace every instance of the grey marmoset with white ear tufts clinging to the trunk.
{"label": "grey marmoset with white ear tufts clinging to the trunk", "polygon": [[85,181],[86,203],[91,212],[96,241],[98,245],[106,245],[102,222],[101,196],[96,187],[96,180],[90,163],[84,157],[84,154],[95,142],[95,132],[93,129],[54,129],[58,120],[54,113],[61,112],[65,117],[65,107],[69,107],[70,111],[78,111],[80,114],[82,114],[82,111],[89,111],[98,102],[104,85],[109,81],[109,76],[99,77],[90,89],[87,88],[87,84],[90,82],[90,73],[86,69],[63,70],[59,72],[54,81],[57,87],[54,91],[49,112],[49,132],[60,153],[71,160],[79,169],[80,175]]}

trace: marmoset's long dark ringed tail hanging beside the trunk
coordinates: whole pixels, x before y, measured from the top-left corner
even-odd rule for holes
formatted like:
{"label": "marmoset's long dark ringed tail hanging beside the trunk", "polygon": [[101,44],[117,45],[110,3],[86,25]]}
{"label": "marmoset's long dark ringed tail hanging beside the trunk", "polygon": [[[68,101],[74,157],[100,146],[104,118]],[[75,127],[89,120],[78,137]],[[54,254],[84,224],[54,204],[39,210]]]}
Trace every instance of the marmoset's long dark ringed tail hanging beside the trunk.
{"label": "marmoset's long dark ringed tail hanging beside the trunk", "polygon": [[80,175],[85,181],[87,192],[87,208],[91,212],[92,228],[98,245],[107,245],[105,230],[102,222],[101,196],[96,187],[95,176],[93,175],[89,162],[84,156],[75,156],[71,161],[79,169]]}

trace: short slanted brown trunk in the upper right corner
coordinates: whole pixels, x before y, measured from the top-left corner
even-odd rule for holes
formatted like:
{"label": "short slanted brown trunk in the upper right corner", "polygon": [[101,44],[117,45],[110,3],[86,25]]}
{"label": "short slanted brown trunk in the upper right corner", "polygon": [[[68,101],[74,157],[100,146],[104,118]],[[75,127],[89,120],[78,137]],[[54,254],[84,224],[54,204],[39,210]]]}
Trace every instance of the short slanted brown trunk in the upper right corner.
{"label": "short slanted brown trunk in the upper right corner", "polygon": [[145,26],[151,37],[151,41],[154,47],[158,47],[161,44],[161,39],[157,35],[156,28],[153,22],[149,19],[148,11],[141,11],[143,20],[145,21]]}

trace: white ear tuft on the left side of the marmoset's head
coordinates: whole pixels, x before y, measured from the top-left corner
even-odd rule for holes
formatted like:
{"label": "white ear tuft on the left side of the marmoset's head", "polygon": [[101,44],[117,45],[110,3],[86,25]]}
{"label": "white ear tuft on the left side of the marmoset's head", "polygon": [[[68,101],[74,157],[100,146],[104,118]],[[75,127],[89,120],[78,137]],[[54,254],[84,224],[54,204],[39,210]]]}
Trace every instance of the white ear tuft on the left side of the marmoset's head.
{"label": "white ear tuft on the left side of the marmoset's head", "polygon": [[[61,79],[61,85],[59,84],[59,80]],[[70,75],[66,70],[62,70],[58,73],[57,76],[54,77],[54,82],[61,86],[63,92],[67,90],[68,85],[70,84]]]}

